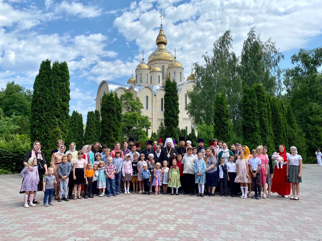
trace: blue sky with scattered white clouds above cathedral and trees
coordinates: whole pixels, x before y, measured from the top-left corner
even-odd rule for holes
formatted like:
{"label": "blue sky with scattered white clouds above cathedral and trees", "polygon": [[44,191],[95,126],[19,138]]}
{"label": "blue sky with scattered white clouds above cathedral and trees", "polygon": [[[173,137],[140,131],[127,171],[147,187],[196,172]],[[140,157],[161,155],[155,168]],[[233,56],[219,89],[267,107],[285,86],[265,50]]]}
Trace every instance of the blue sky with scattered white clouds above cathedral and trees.
{"label": "blue sky with scattered white clouds above cathedral and trees", "polygon": [[251,27],[261,40],[272,38],[285,55],[282,68],[300,48],[322,46],[319,0],[0,0],[0,88],[13,81],[33,88],[44,59],[67,61],[70,114],[95,110],[102,80],[126,83],[131,70],[156,49],[162,26],[167,49],[182,63],[185,78],[213,42],[231,29],[240,56]]}

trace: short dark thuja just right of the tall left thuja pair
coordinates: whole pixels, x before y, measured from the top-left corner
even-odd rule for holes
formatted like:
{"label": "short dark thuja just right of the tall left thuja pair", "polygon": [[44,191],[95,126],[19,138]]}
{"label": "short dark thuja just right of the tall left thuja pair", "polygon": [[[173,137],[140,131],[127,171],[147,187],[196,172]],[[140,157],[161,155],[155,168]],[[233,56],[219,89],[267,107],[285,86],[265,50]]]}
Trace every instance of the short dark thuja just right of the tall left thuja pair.
{"label": "short dark thuja just right of the tall left thuja pair", "polygon": [[73,111],[68,124],[67,143],[75,142],[76,150],[83,146],[83,116],[77,111]]}

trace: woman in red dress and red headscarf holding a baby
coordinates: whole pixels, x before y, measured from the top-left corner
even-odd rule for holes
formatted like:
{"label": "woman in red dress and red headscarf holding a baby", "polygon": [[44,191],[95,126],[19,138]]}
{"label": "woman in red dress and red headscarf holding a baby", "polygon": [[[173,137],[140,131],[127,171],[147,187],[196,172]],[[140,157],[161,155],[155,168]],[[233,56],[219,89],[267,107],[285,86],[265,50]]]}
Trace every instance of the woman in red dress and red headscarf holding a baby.
{"label": "woman in red dress and red headscarf holding a baby", "polygon": [[[274,153],[275,154],[275,153]],[[283,162],[283,168],[277,168],[275,165],[273,178],[272,178],[272,187],[271,192],[277,192],[279,197],[288,198],[288,195],[291,192],[291,183],[287,182],[286,176],[286,165],[287,164],[287,156],[290,154],[286,152],[285,147],[283,145],[279,145],[279,156],[275,158],[272,156],[272,161],[278,160],[279,163]]]}

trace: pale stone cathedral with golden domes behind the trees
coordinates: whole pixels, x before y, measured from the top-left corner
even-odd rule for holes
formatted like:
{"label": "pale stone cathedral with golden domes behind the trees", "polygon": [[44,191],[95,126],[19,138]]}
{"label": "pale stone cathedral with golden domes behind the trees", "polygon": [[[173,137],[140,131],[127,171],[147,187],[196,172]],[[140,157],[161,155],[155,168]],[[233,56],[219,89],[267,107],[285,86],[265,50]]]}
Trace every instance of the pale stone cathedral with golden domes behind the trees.
{"label": "pale stone cathedral with golden domes behind the trees", "polygon": [[[128,79],[127,84],[103,80],[99,84],[96,96],[96,110],[100,111],[101,99],[104,93],[114,91],[121,96],[126,91],[133,93],[134,98],[138,97],[143,104],[142,115],[147,115],[151,121],[151,128],[148,129],[148,136],[157,132],[161,121],[164,122],[164,86],[166,78],[174,79],[178,87],[179,96],[179,128],[186,129],[189,134],[194,128],[192,120],[187,114],[189,98],[187,91],[195,86],[194,74],[185,79],[182,64],[166,49],[168,41],[162,29],[156,37],[156,50],[152,52],[147,63],[142,58],[135,69],[135,77]],[[144,57],[144,56],[143,56]]]}

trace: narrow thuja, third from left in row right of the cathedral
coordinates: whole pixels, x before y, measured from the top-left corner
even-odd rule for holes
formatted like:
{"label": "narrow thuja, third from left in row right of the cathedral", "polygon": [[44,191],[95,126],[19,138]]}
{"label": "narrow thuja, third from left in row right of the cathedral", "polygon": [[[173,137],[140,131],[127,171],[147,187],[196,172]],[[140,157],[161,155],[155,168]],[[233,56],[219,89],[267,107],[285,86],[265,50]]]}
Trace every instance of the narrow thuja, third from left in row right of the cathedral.
{"label": "narrow thuja, third from left in row right of the cathedral", "polygon": [[257,99],[257,110],[260,125],[260,137],[262,144],[267,146],[268,150],[274,148],[273,131],[268,118],[268,102],[266,93],[261,84],[255,84],[254,90]]}

